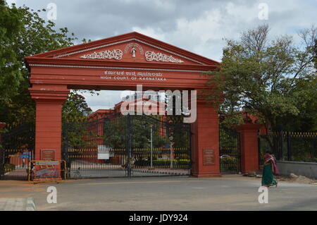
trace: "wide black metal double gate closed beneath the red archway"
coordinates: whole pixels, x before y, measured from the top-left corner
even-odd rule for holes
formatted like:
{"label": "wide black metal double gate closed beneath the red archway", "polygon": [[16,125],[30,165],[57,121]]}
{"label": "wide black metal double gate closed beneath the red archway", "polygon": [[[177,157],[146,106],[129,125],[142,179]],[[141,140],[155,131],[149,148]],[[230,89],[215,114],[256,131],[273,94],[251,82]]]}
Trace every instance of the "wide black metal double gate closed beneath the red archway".
{"label": "wide black metal double gate closed beneath the red archway", "polygon": [[63,124],[68,178],[189,176],[189,124],[163,117],[111,114]]}

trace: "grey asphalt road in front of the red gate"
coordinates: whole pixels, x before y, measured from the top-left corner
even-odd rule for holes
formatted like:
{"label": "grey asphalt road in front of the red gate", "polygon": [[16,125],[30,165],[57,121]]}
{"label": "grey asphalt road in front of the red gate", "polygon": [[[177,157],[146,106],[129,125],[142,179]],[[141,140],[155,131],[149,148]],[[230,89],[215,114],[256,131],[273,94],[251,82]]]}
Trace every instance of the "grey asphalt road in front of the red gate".
{"label": "grey asphalt road in front of the red gate", "polygon": [[[261,179],[103,178],[29,184],[0,181],[0,198],[34,197],[37,210],[317,210],[317,186],[280,181],[258,201]],[[57,203],[46,202],[46,188],[57,188]]]}

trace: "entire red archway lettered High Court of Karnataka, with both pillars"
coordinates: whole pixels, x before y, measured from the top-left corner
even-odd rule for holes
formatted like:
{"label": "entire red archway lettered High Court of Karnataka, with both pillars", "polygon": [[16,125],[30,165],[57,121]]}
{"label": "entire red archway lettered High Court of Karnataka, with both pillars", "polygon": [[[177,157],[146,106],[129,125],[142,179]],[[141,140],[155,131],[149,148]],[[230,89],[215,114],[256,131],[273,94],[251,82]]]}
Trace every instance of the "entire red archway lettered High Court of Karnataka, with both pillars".
{"label": "entire red archway lettered High Court of Karnataka, with both pillars", "polygon": [[[204,71],[219,63],[137,32],[57,49],[25,58],[30,95],[37,105],[35,159],[55,150],[61,159],[61,107],[70,89],[201,90]],[[218,113],[197,101],[192,124],[192,174],[220,176]]]}

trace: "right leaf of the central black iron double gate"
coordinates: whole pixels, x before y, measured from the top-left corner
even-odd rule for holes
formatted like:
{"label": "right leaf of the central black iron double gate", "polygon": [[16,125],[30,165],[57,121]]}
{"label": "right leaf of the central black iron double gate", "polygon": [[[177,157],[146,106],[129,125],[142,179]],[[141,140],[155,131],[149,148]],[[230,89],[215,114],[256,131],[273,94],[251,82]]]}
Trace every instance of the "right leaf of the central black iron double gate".
{"label": "right leaf of the central black iron double gate", "polygon": [[[134,168],[160,168],[190,174],[191,131],[187,123],[168,123],[149,116],[131,116]],[[167,173],[168,174],[168,173]]]}

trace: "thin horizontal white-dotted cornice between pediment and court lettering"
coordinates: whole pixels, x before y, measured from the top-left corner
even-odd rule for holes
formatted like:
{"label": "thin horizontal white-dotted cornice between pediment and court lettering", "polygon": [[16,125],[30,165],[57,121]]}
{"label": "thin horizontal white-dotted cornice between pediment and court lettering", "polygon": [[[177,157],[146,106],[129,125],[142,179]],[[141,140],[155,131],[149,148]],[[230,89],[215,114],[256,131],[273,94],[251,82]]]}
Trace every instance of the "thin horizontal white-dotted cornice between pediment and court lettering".
{"label": "thin horizontal white-dotted cornice between pediment and court lettering", "polygon": [[206,71],[178,70],[178,69],[164,69],[164,68],[130,68],[130,67],[111,67],[111,66],[73,66],[73,65],[50,65],[50,64],[30,64],[30,66],[59,67],[59,68],[101,68],[101,69],[113,69],[113,70],[135,70],[135,71],[173,71],[173,72],[193,72],[193,73],[206,72]]}

